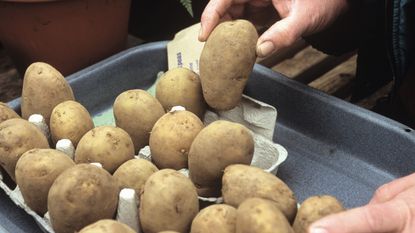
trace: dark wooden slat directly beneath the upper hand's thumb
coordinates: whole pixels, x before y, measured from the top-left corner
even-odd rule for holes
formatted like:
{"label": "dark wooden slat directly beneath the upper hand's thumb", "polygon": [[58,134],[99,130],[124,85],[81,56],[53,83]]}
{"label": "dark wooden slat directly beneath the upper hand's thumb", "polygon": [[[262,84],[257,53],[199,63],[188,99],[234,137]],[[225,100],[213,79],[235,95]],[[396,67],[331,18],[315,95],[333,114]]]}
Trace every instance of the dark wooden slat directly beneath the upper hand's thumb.
{"label": "dark wooden slat directly beneath the upper hand's thumb", "polygon": [[265,58],[258,58],[256,62],[258,64],[261,64],[263,66],[270,68],[286,59],[292,58],[295,54],[300,52],[305,47],[307,47],[307,43],[304,40],[299,40],[296,43],[294,43],[292,46],[281,49],[271,54],[270,56],[267,56]]}

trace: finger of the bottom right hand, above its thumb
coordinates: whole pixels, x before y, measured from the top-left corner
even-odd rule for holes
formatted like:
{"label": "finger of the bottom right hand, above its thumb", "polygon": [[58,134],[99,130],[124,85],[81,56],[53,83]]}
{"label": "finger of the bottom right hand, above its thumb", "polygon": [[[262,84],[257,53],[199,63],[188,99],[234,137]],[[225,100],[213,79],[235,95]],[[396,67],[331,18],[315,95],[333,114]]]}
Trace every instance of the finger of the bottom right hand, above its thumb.
{"label": "finger of the bottom right hand, above its thumb", "polygon": [[415,186],[415,173],[396,179],[379,187],[369,204],[378,204],[392,200],[396,195]]}

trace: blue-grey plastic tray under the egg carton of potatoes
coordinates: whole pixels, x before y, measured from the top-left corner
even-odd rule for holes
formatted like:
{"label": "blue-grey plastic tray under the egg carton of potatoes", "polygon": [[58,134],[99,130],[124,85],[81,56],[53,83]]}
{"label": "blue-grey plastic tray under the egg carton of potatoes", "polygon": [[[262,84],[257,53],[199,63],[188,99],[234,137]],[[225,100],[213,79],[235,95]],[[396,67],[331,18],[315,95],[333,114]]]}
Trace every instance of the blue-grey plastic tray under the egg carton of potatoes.
{"label": "blue-grey plastic tray under the egg carton of potatoes", "polygon": [[[94,116],[124,90],[149,88],[167,69],[167,42],[135,47],[81,70],[68,80]],[[365,204],[376,188],[415,171],[412,129],[256,65],[245,94],[275,106],[274,141],[288,150],[278,176],[299,201],[331,194],[346,207]],[[19,100],[9,103],[19,109]],[[0,192],[0,232],[40,232]],[[2,229],[4,228],[4,229]]]}

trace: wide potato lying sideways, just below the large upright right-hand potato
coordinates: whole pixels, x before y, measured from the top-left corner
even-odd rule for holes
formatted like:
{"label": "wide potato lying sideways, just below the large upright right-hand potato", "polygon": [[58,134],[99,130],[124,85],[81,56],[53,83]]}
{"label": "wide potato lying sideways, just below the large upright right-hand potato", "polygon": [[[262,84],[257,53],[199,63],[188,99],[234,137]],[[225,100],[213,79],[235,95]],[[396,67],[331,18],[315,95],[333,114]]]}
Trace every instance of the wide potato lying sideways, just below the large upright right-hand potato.
{"label": "wide potato lying sideways, just below the large upright right-hand potato", "polygon": [[293,191],[278,177],[257,167],[228,166],[222,178],[222,195],[226,204],[235,207],[250,197],[272,200],[289,222],[297,212]]}

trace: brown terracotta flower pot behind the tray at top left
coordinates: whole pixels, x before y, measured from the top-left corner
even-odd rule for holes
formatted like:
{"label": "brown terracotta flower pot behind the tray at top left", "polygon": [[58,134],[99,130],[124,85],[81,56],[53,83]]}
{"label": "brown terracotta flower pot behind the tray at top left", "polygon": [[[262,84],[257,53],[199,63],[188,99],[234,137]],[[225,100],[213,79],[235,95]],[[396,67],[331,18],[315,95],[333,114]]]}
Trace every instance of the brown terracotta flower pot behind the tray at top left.
{"label": "brown terracotta flower pot behind the tray at top left", "polygon": [[0,1],[0,41],[21,74],[43,61],[71,74],[126,47],[130,0]]}

